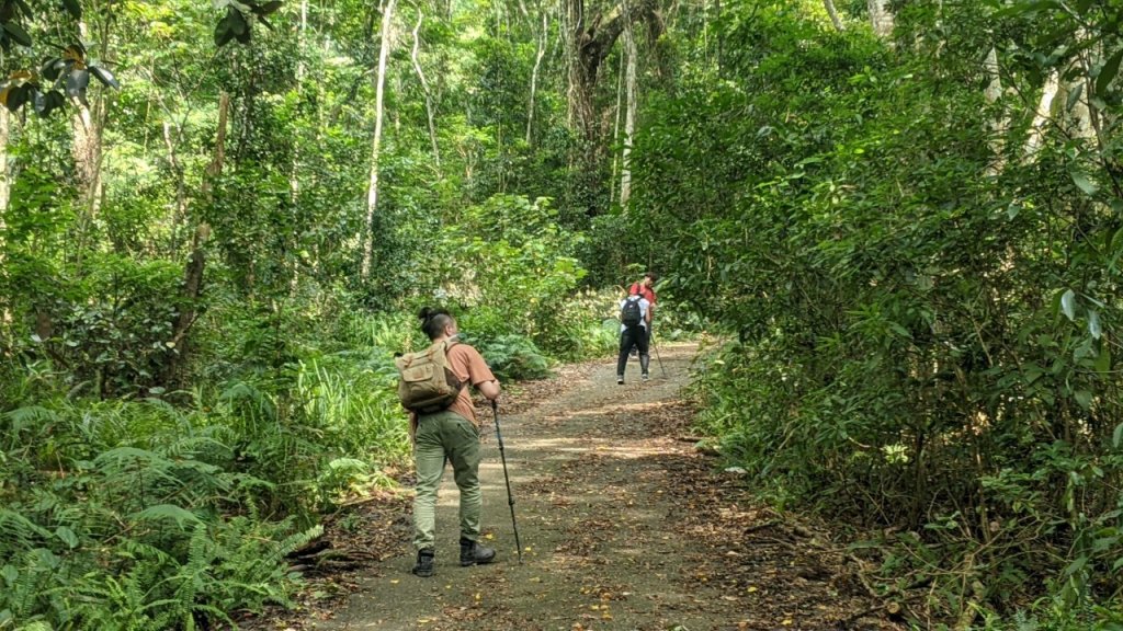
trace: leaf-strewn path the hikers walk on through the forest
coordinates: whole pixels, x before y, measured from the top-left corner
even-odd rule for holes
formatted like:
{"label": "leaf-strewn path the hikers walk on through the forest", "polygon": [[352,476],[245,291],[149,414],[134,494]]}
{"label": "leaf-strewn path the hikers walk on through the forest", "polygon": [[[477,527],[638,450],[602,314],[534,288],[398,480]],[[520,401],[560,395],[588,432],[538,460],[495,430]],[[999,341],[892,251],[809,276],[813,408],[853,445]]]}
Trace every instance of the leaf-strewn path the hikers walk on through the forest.
{"label": "leaf-strewn path the hikers walk on through the forest", "polygon": [[500,429],[522,545],[517,555],[491,410],[481,481],[492,565],[462,568],[458,492],[437,507],[437,575],[410,574],[411,502],[371,497],[330,520],[294,611],[243,629],[902,630],[856,559],[822,527],[752,500],[736,470],[687,439],[679,391],[692,345],[660,345],[651,381],[636,360],[565,366],[509,388]]}

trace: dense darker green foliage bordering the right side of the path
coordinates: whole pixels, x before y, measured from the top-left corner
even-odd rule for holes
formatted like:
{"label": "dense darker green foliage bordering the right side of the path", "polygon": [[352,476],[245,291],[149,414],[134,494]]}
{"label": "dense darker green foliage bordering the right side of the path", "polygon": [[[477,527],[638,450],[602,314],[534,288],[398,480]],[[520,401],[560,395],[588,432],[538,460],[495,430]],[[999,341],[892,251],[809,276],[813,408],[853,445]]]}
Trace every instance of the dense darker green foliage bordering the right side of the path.
{"label": "dense darker green foliage bordering the right side of the path", "polygon": [[1119,624],[1121,16],[1003,4],[900,7],[895,49],[727,6],[725,62],[646,110],[626,220],[724,332],[700,422],[775,501],[880,532],[887,597],[998,624],[1044,582],[1042,623]]}

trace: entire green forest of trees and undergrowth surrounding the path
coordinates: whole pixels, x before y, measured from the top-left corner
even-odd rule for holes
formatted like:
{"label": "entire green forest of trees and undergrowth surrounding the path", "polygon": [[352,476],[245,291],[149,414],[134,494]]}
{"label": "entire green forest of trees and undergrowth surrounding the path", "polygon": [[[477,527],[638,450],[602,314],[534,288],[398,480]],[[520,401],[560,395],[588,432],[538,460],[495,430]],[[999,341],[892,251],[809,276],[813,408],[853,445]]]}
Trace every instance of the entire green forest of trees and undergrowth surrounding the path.
{"label": "entire green forest of trees and undergrowth surrounding the path", "polygon": [[706,331],[916,628],[1123,628],[1114,0],[0,0],[0,630],[206,629],[505,383]]}

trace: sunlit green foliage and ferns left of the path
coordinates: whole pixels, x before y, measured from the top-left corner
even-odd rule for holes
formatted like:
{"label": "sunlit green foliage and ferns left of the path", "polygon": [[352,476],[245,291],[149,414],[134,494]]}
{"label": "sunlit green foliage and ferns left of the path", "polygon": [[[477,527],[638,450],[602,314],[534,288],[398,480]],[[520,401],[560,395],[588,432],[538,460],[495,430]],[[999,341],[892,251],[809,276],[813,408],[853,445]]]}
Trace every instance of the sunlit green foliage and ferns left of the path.
{"label": "sunlit green foliage and ferns left of the path", "polygon": [[[407,470],[422,304],[537,378],[615,344],[615,292],[572,299],[583,240],[540,196],[557,73],[553,148],[511,143],[527,51],[474,4],[393,22],[369,225],[376,4],[81,4],[0,3],[0,629],[209,628],[287,603],[319,515]],[[112,81],[48,85],[63,45]]]}

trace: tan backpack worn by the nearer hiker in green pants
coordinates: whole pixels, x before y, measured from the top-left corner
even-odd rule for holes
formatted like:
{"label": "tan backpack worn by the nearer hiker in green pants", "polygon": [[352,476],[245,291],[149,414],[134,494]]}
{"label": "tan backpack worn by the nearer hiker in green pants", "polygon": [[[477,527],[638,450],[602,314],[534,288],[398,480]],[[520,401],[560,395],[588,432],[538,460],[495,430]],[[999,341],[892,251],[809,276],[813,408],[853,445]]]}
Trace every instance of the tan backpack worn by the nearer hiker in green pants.
{"label": "tan backpack worn by the nearer hiker in green pants", "polygon": [[394,359],[398,367],[398,397],[411,412],[439,412],[453,404],[464,383],[448,363],[448,350],[455,340],[442,340],[424,350],[408,353]]}

